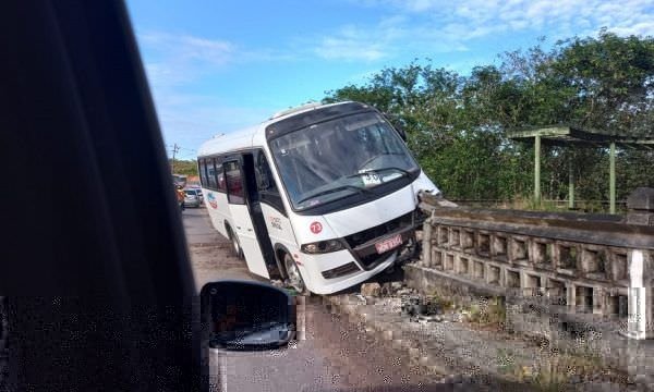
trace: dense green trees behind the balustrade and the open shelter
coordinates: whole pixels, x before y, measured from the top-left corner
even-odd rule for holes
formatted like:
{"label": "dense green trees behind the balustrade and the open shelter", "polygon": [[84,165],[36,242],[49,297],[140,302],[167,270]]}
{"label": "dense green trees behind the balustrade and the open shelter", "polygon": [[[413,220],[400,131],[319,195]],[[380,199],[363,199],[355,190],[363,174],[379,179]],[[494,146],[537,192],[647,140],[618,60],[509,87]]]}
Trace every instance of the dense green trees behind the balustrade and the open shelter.
{"label": "dense green trees behind the balustrade and the open shelter", "polygon": [[[654,39],[572,38],[553,49],[537,46],[500,54],[500,65],[470,75],[431,61],[387,68],[365,85],[328,91],[326,102],[367,102],[400,121],[427,174],[450,198],[513,199],[533,192],[533,147],[506,132],[569,124],[603,132],[652,134]],[[654,186],[654,154],[618,149],[618,198]],[[545,147],[545,198],[567,196],[569,168],[578,197],[608,198],[607,148]]]}

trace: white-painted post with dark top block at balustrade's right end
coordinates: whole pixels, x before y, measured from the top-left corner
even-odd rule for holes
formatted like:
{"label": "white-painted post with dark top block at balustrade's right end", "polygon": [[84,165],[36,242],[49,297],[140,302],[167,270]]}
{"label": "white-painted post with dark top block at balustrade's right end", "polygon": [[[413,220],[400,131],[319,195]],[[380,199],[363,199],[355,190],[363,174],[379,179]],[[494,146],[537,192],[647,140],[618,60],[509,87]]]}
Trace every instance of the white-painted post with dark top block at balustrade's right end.
{"label": "white-painted post with dark top block at balustrade's right end", "polygon": [[[627,223],[654,226],[654,188],[638,188],[627,199]],[[629,298],[627,336],[654,339],[653,252],[631,249],[628,255]]]}

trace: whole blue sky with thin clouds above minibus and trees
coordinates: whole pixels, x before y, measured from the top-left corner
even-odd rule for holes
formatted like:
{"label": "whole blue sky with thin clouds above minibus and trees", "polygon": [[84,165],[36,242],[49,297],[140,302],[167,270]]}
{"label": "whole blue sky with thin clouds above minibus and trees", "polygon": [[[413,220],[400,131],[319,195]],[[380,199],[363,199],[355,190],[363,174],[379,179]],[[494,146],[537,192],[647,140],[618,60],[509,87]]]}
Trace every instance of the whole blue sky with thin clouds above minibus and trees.
{"label": "whole blue sky with thin clouds above minibus and trees", "polygon": [[468,74],[545,37],[654,36],[654,0],[126,0],[166,145],[214,135],[431,59]]}

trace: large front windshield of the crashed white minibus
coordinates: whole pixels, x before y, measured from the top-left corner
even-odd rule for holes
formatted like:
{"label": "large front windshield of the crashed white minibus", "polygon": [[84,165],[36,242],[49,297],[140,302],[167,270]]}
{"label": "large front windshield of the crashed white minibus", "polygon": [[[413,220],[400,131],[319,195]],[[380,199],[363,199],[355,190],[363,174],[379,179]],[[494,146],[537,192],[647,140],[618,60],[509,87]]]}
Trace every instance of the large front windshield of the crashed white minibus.
{"label": "large front windshield of the crashed white minibus", "polygon": [[375,112],[291,132],[272,139],[270,149],[296,210],[370,194],[420,170],[397,132]]}

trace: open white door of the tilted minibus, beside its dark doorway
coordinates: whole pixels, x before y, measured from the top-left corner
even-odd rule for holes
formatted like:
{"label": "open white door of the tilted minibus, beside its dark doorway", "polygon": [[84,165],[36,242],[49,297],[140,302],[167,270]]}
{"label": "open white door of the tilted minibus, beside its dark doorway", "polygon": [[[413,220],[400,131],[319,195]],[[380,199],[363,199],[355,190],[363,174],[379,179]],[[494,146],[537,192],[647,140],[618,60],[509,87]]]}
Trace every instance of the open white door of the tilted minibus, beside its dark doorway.
{"label": "open white door of the tilted minibus, beside its dark doorway", "polygon": [[241,159],[228,160],[223,163],[223,167],[227,184],[227,201],[234,225],[232,230],[239,236],[247,269],[257,275],[270,278],[245,199],[246,181],[243,176]]}

